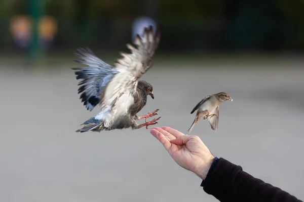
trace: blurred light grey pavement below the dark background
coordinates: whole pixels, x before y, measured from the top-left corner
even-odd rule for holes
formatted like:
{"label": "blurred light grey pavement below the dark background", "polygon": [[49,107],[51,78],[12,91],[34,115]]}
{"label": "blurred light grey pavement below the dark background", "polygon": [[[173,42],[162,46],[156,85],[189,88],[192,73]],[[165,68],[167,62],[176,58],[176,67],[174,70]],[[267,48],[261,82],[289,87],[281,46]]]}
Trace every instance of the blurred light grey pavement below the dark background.
{"label": "blurred light grey pavement below the dark background", "polygon": [[[200,121],[198,135],[212,153],[304,199],[304,70],[284,67],[208,70],[151,69],[154,85],[141,111],[160,109],[159,126],[186,132],[193,107],[206,95],[228,92],[219,128]],[[149,130],[75,133],[86,111],[72,71],[0,71],[0,200],[217,201],[201,180],[180,168]]]}

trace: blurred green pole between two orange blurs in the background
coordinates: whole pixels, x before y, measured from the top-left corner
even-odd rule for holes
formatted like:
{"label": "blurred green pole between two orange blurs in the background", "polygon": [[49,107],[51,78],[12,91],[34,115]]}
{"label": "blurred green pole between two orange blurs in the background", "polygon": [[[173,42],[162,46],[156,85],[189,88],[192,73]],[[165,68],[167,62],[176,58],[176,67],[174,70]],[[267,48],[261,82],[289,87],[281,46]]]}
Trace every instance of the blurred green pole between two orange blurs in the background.
{"label": "blurred green pole between two orange blurs in the background", "polygon": [[38,22],[43,15],[45,0],[28,0],[29,13],[33,20],[32,40],[28,50],[30,60],[36,61],[37,57],[42,56],[42,48],[38,44]]}

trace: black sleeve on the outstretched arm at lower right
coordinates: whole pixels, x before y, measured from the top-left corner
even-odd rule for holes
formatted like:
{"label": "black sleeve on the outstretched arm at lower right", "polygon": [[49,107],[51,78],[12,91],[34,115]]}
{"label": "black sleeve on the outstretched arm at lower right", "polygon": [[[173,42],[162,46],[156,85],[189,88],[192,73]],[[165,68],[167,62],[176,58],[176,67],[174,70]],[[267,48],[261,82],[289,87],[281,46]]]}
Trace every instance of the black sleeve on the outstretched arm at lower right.
{"label": "black sleeve on the outstretched arm at lower right", "polygon": [[[254,178],[223,158],[215,158],[201,186],[219,201],[301,201],[271,184]],[[303,202],[303,201],[301,201]]]}

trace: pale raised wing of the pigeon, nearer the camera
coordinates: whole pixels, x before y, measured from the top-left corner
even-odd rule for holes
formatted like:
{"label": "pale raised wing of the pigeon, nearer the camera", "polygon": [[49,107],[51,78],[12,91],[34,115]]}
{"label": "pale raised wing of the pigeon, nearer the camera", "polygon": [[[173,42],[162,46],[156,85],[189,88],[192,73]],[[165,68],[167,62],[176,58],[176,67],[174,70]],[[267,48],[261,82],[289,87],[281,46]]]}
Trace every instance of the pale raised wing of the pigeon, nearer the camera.
{"label": "pale raised wing of the pigeon, nearer the camera", "polygon": [[[130,95],[136,92],[138,80],[153,64],[152,57],[158,47],[160,37],[160,26],[155,35],[153,34],[153,27],[150,26],[144,29],[142,38],[136,35],[133,41],[134,45],[127,44],[131,53],[121,53],[123,58],[118,59],[113,65],[114,68],[124,71],[120,71],[112,76],[106,84],[105,90],[101,93],[99,103],[101,109],[104,107],[113,107],[123,94],[124,99],[126,97],[131,99]],[[121,100],[121,102],[126,102],[124,103],[124,107],[126,107],[129,101],[131,103],[131,100]],[[116,105],[118,104],[119,102]],[[121,108],[123,108],[123,106]]]}

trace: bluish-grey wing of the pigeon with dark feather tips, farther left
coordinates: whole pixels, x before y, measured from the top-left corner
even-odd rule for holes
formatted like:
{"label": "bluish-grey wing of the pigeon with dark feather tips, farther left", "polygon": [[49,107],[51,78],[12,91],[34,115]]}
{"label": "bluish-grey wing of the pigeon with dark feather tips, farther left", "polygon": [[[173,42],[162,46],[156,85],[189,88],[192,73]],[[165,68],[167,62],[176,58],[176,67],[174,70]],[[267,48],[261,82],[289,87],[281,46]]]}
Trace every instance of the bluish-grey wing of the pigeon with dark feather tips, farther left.
{"label": "bluish-grey wing of the pigeon with dark feather tips, farther left", "polygon": [[92,111],[99,103],[105,85],[113,75],[119,72],[119,69],[114,69],[97,58],[89,48],[80,48],[75,55],[80,59],[75,62],[88,66],[71,69],[76,70],[76,79],[82,79],[78,84],[80,85],[78,93],[81,93],[81,102],[84,103],[87,110]]}

